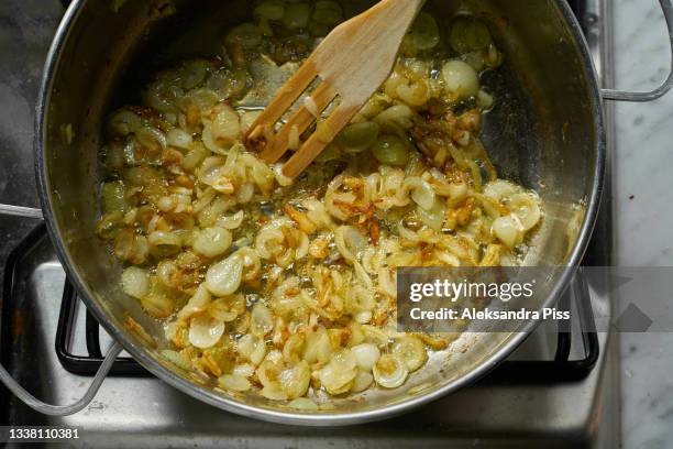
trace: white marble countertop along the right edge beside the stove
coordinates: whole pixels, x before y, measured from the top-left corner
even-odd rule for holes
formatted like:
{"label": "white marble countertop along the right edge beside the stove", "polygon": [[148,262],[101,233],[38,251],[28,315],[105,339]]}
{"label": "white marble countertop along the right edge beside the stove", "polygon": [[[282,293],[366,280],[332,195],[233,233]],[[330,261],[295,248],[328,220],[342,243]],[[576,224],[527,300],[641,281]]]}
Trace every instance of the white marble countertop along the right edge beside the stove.
{"label": "white marble countertop along the right edge beside the stove", "polygon": [[[618,87],[654,87],[670,67],[657,1],[617,0],[615,19]],[[617,130],[617,263],[673,266],[673,92],[619,105]],[[673,448],[673,333],[625,333],[620,344],[624,448]]]}

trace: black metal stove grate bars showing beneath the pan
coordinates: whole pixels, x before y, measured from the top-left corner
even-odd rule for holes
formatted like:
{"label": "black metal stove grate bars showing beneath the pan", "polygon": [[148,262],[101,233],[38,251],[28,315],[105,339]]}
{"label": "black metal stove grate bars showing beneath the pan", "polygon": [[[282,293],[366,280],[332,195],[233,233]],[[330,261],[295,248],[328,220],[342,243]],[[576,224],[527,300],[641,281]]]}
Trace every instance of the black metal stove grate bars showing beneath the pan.
{"label": "black metal stove grate bars showing beneath the pan", "polygon": [[[3,332],[2,348],[11,347],[11,324],[9,322],[14,298],[14,284],[20,282],[19,264],[22,255],[30,252],[41,239],[46,238],[44,225],[32,231],[10,254],[4,270],[4,288],[2,302]],[[573,284],[573,295],[567,292],[559,302],[558,307],[571,310],[571,320],[578,320],[580,329],[595,329],[594,314],[591,306],[589,292],[586,284]],[[575,307],[571,305],[571,297],[575,298]],[[77,296],[76,288],[66,280],[58,327],[56,331],[55,349],[62,365],[69,372],[79,375],[93,375],[102,363],[103,354],[100,347],[100,325],[87,310],[85,322],[85,338],[87,354],[75,354],[71,351],[71,342],[76,330],[77,308],[84,303]],[[561,325],[560,325],[561,326]],[[497,365],[483,382],[512,383],[512,384],[540,384],[574,382],[586,377],[598,360],[599,344],[595,331],[583,331],[580,339],[584,357],[578,360],[570,360],[573,336],[570,324],[564,324],[558,329],[556,350],[553,360],[507,360]],[[577,340],[577,339],[575,339]],[[577,343],[577,342],[575,342]],[[152,374],[142,368],[135,360],[129,357],[120,357],[113,364],[110,374],[112,376],[151,376]]]}

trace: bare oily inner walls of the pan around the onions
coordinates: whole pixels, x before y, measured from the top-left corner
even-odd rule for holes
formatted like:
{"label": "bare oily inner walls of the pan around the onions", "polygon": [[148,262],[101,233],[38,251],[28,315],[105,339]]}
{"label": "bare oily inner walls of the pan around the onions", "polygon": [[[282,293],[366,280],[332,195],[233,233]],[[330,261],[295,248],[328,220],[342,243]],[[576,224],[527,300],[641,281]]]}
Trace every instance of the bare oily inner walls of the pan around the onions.
{"label": "bare oily inner walls of the pan around the onions", "polygon": [[[108,3],[76,4],[79,10],[53,73],[44,118],[45,188],[53,225],[63,239],[62,256],[70,274],[81,283],[99,317],[104,316],[108,328],[122,336],[142,362],[155,364],[155,372],[156,363],[175,371],[124,326],[130,316],[150,335],[163,335],[137,302],[121,292],[121,266],[92,232],[99,217],[102,123],[111,109],[133,100],[134,84],[152,69],[217,51],[223,30],[250,19],[252,7],[243,0],[134,1],[118,11]],[[344,2],[346,11],[369,4]],[[527,263],[558,266],[576,262],[571,255],[576,256],[584,242],[571,225],[582,222],[582,205],[592,200],[598,183],[600,120],[592,97],[591,68],[563,7],[552,0],[526,4],[519,0],[434,0],[426,8],[440,29],[454,14],[467,11],[483,18],[496,36],[506,63],[485,76],[484,84],[495,94],[497,106],[486,117],[483,141],[501,177],[536,189],[543,200],[543,225]],[[558,276],[551,276],[539,286],[538,305],[547,304],[558,282]],[[515,338],[464,333],[450,350],[434,354],[402,387],[336,399],[335,408],[323,414],[353,417],[415,401],[450,384],[457,386],[475,370],[492,365],[494,355],[509,349]],[[168,376],[165,371],[161,375]],[[257,396],[234,398],[207,391],[187,376],[174,376],[172,382],[192,392],[200,390],[196,394],[201,398],[225,408],[244,403],[287,412]],[[274,413],[266,418],[289,419]],[[317,416],[306,416],[307,421]]]}

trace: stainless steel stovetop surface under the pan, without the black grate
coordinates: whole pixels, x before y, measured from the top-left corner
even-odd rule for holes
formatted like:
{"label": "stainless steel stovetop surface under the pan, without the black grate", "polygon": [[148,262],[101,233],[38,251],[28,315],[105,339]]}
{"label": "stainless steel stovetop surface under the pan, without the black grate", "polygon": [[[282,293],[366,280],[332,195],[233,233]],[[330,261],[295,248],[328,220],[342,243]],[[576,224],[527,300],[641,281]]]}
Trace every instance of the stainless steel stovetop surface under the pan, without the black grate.
{"label": "stainless steel stovetop surface under the pan, without the black grate", "polygon": [[[609,61],[600,52],[606,30],[604,3],[575,0],[585,11],[587,41],[597,66]],[[36,206],[32,167],[33,105],[42,64],[63,13],[57,0],[4,0],[0,6],[0,202]],[[607,42],[607,41],[606,41]],[[604,74],[605,75],[605,74]],[[608,124],[609,127],[609,124]],[[604,208],[589,263],[609,261],[610,211]],[[0,217],[0,263],[35,222]],[[74,375],[54,350],[65,275],[48,239],[37,236],[15,261],[12,303],[3,307],[3,330],[11,350],[3,362],[37,397],[69,403],[81,395],[90,377]],[[0,276],[0,286],[2,278]],[[593,306],[609,308],[609,298],[592,295]],[[2,298],[8,306],[8,298]],[[85,309],[76,326],[84,326]],[[75,331],[74,352],[86,353],[82,331]],[[95,402],[65,418],[40,416],[0,391],[0,419],[12,425],[63,425],[81,429],[79,445],[97,447],[617,447],[615,363],[607,335],[599,335],[600,355],[588,376],[572,383],[484,382],[401,418],[346,428],[298,428],[242,418],[207,406],[153,377],[108,379]],[[540,332],[512,355],[517,360],[550,360],[556,335]],[[109,343],[101,336],[103,347]],[[574,341],[571,359],[582,358]],[[607,420],[606,420],[607,417]],[[600,418],[600,419],[599,419]],[[0,423],[0,424],[5,424]],[[598,425],[600,423],[600,425]]]}

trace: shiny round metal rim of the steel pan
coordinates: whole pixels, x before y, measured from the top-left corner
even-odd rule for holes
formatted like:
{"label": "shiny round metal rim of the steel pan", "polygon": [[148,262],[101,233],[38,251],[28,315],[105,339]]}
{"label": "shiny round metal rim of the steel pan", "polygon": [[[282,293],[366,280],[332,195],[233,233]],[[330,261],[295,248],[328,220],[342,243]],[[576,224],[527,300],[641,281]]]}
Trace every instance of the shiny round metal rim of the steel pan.
{"label": "shiny round metal rim of the steel pan", "polygon": [[[58,68],[60,54],[67,44],[73,25],[77,22],[77,18],[81,13],[86,1],[87,0],[74,0],[71,2],[64,15],[63,21],[60,22],[57,29],[54,41],[47,54],[41,80],[41,89],[37,98],[35,116],[34,153],[36,185],[49,239],[56,250],[58,260],[60,261],[64,270],[66,271],[68,278],[75,284],[75,287],[80,294],[80,297],[85,300],[87,308],[96,316],[96,318],[106,329],[106,331],[109,332],[110,336],[115,341],[118,341],[141,365],[143,365],[156,377],[196,399],[245,417],[262,419],[277,424],[315,427],[363,424],[390,418],[411,412],[412,409],[416,409],[422,405],[426,405],[452,392],[455,392],[463,386],[472,384],[476,380],[486,375],[497,364],[505,360],[521,342],[523,342],[528,335],[539,325],[538,320],[531,320],[525,327],[525,329],[522,329],[521,332],[516,332],[515,335],[512,335],[509,340],[506,340],[503,344],[500,344],[500,347],[487,359],[485,359],[482,364],[476,366],[476,369],[474,369],[466,375],[463,375],[452,382],[446,383],[445,385],[437,388],[433,392],[429,392],[427,394],[418,395],[415,397],[409,397],[406,401],[386,405],[377,409],[354,413],[326,413],[309,415],[291,412],[273,410],[249,405],[242,402],[223,397],[205,387],[189,383],[183,376],[157,363],[148,354],[148,350],[141,346],[136,346],[126,336],[125,332],[123,332],[121,329],[114,326],[111,320],[108,319],[106,311],[103,310],[101,305],[95,299],[95,296],[84,282],[78,269],[73,263],[68,249],[65,247],[64,241],[62,239],[63,232],[58,225],[58,220],[56,219],[54,201],[49,188],[51,183],[47,172],[47,162],[45,153],[48,105],[51,102],[54,75]],[[591,57],[588,45],[586,43],[580,23],[577,22],[577,19],[571,10],[571,7],[565,0],[554,0],[554,4],[558,7],[561,17],[565,20],[567,29],[571,31],[572,36],[575,43],[577,44],[577,47],[580,48],[583,66],[586,70],[586,78],[591,90],[591,106],[593,112],[592,114],[594,117],[593,125],[596,136],[594,142],[596,154],[594,161],[595,172],[593,176],[593,185],[591,187],[591,193],[586,200],[587,213],[580,230],[577,243],[575,244],[571,252],[571,255],[569,256],[569,265],[577,266],[588,245],[604,191],[607,158],[605,110],[602,103],[602,96],[597,81],[598,78],[596,74],[596,68]],[[560,276],[556,284],[552,288],[550,295],[543,303],[543,306],[547,307],[553,304],[565,291],[570,281],[571,273],[572,271],[570,270],[564,271],[564,273]]]}

